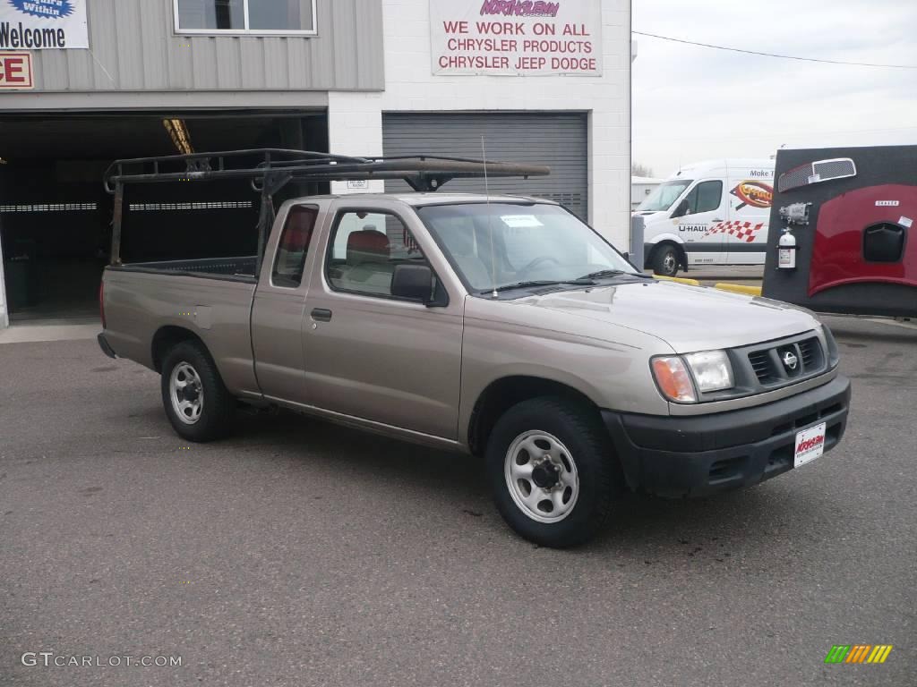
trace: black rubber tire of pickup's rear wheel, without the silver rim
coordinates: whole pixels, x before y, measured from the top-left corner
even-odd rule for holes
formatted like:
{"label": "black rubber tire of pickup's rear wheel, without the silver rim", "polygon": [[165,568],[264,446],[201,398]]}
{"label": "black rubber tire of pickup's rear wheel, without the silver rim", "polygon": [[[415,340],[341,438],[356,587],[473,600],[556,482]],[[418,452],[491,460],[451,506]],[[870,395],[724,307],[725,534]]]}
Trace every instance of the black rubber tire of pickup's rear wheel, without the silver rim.
{"label": "black rubber tire of pickup's rear wheel, without the silver rim", "polygon": [[[199,416],[193,422],[189,421],[190,418],[182,420],[178,409],[172,403],[171,377],[173,371],[180,365],[190,365],[200,382],[202,404]],[[186,369],[182,367],[182,370]],[[196,381],[193,387],[197,387]],[[187,439],[189,442],[212,442],[222,439],[229,433],[236,402],[226,391],[226,386],[216,369],[213,358],[207,353],[203,344],[184,341],[181,344],[175,344],[170,349],[162,361],[160,388],[162,407],[166,411],[166,417],[169,418],[172,428],[182,439]],[[187,399],[181,398],[180,400]]]}

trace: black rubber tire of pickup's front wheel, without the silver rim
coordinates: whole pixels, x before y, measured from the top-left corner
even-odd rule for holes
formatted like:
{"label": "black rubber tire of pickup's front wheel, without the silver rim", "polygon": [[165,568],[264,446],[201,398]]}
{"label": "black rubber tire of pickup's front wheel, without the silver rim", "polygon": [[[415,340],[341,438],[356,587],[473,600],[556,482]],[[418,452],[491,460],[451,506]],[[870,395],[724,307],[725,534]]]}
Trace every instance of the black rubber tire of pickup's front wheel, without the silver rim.
{"label": "black rubber tire of pickup's front wheel, without the silver rim", "polygon": [[[516,502],[516,498],[525,493],[524,488],[515,491],[516,496],[511,493],[514,489],[511,482],[519,480],[508,476],[511,459],[507,455],[517,441],[535,431],[558,439],[569,450],[569,461],[579,475],[579,491],[573,506],[566,516],[555,522],[536,520],[526,512],[524,505]],[[624,484],[620,463],[617,463],[598,412],[586,404],[563,398],[532,398],[507,410],[497,420],[487,443],[486,463],[493,498],[507,524],[526,540],[555,549],[590,540],[608,519]],[[521,481],[525,483],[526,480]],[[535,484],[532,478],[530,492],[536,489]],[[562,485],[555,488],[560,489]],[[539,507],[550,507],[550,499],[543,498]],[[544,517],[550,515],[547,513]]]}

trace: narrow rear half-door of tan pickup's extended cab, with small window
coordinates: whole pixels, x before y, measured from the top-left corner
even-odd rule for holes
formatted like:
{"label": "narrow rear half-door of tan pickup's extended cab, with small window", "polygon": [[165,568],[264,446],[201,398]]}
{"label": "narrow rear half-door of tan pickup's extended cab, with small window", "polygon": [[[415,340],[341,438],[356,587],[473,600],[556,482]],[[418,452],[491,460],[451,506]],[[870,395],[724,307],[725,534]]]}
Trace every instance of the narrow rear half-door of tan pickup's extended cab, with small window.
{"label": "narrow rear half-door of tan pickup's extended cab, with small window", "polygon": [[[317,205],[293,205],[272,235],[251,310],[251,344],[261,393],[304,403],[303,327]],[[273,234],[278,234],[274,232]]]}

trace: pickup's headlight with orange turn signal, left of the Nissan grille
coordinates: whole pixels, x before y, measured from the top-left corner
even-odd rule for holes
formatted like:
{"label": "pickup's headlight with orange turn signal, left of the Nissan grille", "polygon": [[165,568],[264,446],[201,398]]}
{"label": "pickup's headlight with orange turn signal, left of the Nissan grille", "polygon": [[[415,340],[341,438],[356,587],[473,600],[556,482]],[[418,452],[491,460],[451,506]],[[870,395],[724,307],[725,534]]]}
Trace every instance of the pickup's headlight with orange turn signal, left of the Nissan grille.
{"label": "pickup's headlight with orange turn signal, left of the Nissan grille", "polygon": [[653,358],[652,367],[659,389],[676,403],[697,403],[698,390],[706,393],[735,387],[733,367],[725,351],[662,355]]}

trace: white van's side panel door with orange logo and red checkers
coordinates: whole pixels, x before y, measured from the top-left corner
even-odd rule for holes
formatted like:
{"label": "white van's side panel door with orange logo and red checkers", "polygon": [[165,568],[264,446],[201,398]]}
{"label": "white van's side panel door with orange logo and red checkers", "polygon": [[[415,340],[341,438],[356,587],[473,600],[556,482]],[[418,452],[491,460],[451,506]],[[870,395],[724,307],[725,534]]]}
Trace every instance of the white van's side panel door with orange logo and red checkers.
{"label": "white van's side panel door with orange logo and red checkers", "polygon": [[726,246],[730,265],[764,265],[768,247],[770,206],[774,195],[773,170],[746,170],[751,174],[729,182],[729,226]]}

